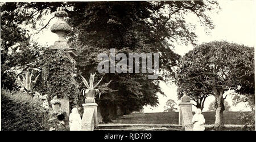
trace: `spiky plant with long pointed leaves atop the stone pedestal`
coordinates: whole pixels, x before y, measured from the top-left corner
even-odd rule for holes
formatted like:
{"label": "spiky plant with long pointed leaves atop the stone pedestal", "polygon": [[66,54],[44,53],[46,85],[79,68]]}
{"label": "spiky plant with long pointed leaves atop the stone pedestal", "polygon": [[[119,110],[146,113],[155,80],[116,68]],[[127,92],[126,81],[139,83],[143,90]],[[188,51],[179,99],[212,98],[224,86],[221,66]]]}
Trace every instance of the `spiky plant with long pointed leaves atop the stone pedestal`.
{"label": "spiky plant with long pointed leaves atop the stone pedestal", "polygon": [[[100,93],[100,91],[99,91],[98,89],[95,89],[95,88],[97,87],[98,84],[100,84],[100,82],[101,82],[101,80],[102,80],[103,77],[102,77],[102,78],[100,79],[100,81],[98,81],[98,83],[94,86],[93,82],[94,82],[94,76],[95,76],[95,75],[96,75],[96,72],[95,72],[94,74],[90,74],[89,84],[88,84],[87,80],[86,80],[82,75],[80,75],[80,76],[82,77],[82,82],[84,83],[85,87],[87,88],[87,89],[82,89],[82,95],[83,95],[83,96],[84,96],[85,93],[88,93],[89,90],[93,90],[93,89],[96,91],[96,94],[95,94],[95,95],[97,95],[98,93]],[[100,98],[100,96],[101,96],[101,93],[99,94],[99,98]]]}

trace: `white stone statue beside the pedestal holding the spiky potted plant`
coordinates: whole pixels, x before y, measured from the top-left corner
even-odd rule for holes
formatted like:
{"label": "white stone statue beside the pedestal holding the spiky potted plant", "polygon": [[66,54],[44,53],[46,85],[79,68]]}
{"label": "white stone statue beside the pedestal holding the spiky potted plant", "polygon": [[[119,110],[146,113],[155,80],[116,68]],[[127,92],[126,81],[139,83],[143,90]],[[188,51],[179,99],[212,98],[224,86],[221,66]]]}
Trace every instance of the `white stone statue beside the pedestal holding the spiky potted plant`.
{"label": "white stone statue beside the pedestal holding the spiky potted plant", "polygon": [[71,114],[69,115],[69,128],[70,131],[81,131],[81,117],[78,113],[77,108],[73,108],[71,110]]}

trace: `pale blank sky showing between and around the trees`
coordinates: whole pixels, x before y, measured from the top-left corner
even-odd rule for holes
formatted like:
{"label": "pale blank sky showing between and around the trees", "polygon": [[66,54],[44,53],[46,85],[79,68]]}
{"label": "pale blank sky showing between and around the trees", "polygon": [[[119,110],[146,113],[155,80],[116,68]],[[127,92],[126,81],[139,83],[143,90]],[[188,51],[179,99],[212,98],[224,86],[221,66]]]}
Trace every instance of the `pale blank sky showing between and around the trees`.
{"label": "pale blank sky showing between and around the trees", "polygon": [[[221,7],[221,10],[218,12],[212,12],[210,17],[213,20],[215,28],[210,31],[210,33],[206,33],[204,27],[198,23],[198,19],[195,16],[188,16],[185,20],[192,23],[197,23],[196,26],[196,35],[197,44],[201,44],[203,42],[209,41],[220,41],[225,40],[229,42],[235,42],[237,44],[243,44],[247,46],[254,47],[255,45],[255,2],[252,0],[222,0],[218,1]],[[47,16],[46,21],[52,18],[52,16]],[[49,23],[49,27],[53,23],[55,23],[56,19],[53,19]],[[46,29],[43,32],[40,32],[38,35],[34,37],[39,44],[48,44],[53,45],[53,43],[57,40],[57,35],[52,33],[50,29]],[[177,45],[175,48],[175,52],[183,56],[189,50],[192,50],[193,46],[188,45]],[[157,107],[144,106],[144,113],[154,113],[154,112],[163,112],[164,105],[168,99],[177,100],[177,92],[176,85],[167,85],[163,82],[160,83],[160,88],[164,92],[166,96],[162,94],[158,94],[159,105]],[[226,92],[225,94],[229,94],[230,92]],[[224,95],[225,95],[224,94]],[[214,101],[213,96],[209,96],[205,101],[205,109],[203,111],[208,110],[208,106],[210,102]],[[229,105],[232,105],[232,95],[229,95],[226,98]],[[195,110],[196,108],[193,106],[192,108]],[[249,108],[245,107],[245,104],[240,104],[237,106],[231,107],[232,111],[246,111]]]}

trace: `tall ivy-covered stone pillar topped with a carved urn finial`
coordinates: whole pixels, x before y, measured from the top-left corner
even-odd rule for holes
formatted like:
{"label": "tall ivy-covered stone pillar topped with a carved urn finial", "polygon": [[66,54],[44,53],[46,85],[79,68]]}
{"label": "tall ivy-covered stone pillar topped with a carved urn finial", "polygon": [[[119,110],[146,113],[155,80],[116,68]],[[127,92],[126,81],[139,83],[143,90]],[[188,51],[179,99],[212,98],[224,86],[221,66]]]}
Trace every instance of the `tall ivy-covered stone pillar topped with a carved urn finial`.
{"label": "tall ivy-covered stone pillar topped with a carved urn finial", "polygon": [[[69,47],[65,36],[71,32],[72,28],[64,21],[67,16],[63,7],[58,7],[55,13],[58,18],[52,25],[51,31],[59,36],[59,39],[53,46],[44,51],[43,63],[43,81],[48,94],[48,101],[53,98],[60,102],[60,109],[52,111],[58,117],[61,117],[61,123],[65,128],[68,127],[68,117],[71,109],[77,105],[77,96],[79,95],[79,84],[75,80],[74,72],[76,70],[76,50]],[[63,114],[64,113],[64,114]],[[63,118],[64,116],[64,118]],[[52,118],[52,120],[56,120]],[[58,130],[55,128],[55,130]]]}

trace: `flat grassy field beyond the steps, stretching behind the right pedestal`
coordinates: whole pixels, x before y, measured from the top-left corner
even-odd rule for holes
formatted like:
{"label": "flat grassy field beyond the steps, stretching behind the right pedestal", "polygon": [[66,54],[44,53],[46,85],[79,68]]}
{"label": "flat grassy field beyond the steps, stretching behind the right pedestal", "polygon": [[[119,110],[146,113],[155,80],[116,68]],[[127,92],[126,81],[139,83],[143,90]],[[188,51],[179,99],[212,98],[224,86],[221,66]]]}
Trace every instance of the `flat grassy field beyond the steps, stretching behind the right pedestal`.
{"label": "flat grassy field beyond the steps, stretching behind the right pedestal", "polygon": [[[247,113],[247,112],[245,112]],[[193,112],[193,114],[195,114]],[[215,120],[215,112],[203,112],[205,124],[213,124]],[[225,124],[242,124],[242,122],[237,119],[240,111],[224,111]],[[168,113],[132,113],[129,115],[124,115],[114,120],[114,123],[123,124],[178,124],[179,123],[179,113],[178,112],[168,112]]]}

